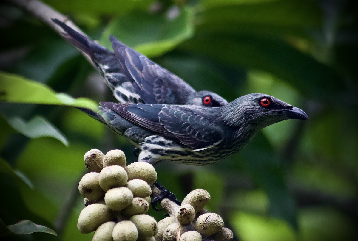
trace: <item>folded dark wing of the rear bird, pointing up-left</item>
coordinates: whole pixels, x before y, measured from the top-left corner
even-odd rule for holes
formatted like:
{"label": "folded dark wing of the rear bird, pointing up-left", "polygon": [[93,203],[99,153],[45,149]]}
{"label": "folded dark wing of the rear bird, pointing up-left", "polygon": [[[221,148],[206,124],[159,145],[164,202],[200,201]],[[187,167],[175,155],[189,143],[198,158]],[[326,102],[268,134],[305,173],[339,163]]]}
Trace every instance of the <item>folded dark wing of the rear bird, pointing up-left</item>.
{"label": "folded dark wing of the rear bird, pointing up-left", "polygon": [[110,36],[122,68],[145,103],[185,104],[195,90],[184,80]]}

